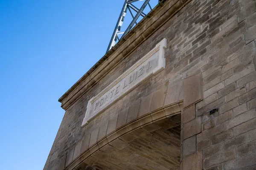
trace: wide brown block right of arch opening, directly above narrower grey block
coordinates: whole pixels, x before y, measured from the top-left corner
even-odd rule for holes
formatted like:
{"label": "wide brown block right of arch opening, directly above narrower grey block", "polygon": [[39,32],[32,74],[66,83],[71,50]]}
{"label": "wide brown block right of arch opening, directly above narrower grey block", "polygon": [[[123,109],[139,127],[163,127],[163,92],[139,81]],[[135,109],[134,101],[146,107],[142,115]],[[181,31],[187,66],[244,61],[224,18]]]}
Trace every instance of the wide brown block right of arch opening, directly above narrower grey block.
{"label": "wide brown block right of arch opening, directly above narrower grey block", "polygon": [[198,117],[183,125],[183,140],[194,136],[202,131],[201,118]]}

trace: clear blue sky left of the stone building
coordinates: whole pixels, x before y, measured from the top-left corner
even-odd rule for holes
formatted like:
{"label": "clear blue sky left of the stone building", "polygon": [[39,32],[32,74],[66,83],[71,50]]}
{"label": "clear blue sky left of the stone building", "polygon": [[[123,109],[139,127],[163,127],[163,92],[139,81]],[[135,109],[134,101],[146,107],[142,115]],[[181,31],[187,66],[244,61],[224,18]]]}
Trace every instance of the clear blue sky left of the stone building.
{"label": "clear blue sky left of the stone building", "polygon": [[58,98],[103,57],[123,3],[0,0],[1,170],[43,169]]}

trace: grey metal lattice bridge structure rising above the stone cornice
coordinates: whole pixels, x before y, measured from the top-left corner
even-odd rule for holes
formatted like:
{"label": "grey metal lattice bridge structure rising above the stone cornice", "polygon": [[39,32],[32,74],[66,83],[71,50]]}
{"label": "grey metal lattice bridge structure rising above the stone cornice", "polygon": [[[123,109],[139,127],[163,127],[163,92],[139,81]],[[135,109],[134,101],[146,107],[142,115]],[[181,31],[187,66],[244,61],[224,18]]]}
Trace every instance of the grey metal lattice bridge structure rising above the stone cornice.
{"label": "grey metal lattice bridge structure rising above the stone cornice", "polygon": [[[138,4],[136,3],[137,1],[144,1],[144,3],[142,4],[142,6],[138,6]],[[115,29],[113,31],[111,40],[109,42],[108,45],[108,49],[107,52],[116,45],[116,43],[122,39],[122,37],[124,37],[133,27],[134,24],[136,25],[138,22],[139,17],[144,18],[147,14],[145,14],[143,11],[145,10],[146,7],[149,7],[149,11],[152,10],[152,6],[149,3],[150,0],[125,0],[125,3],[122,7],[121,13],[119,15],[119,18],[117,20]],[[161,0],[158,0],[158,3]],[[122,25],[125,21],[125,16],[127,15],[127,12],[129,11],[129,14],[132,17],[132,20],[130,21],[130,24],[128,25],[128,27],[126,29],[123,30]],[[127,23],[129,22],[127,20]]]}

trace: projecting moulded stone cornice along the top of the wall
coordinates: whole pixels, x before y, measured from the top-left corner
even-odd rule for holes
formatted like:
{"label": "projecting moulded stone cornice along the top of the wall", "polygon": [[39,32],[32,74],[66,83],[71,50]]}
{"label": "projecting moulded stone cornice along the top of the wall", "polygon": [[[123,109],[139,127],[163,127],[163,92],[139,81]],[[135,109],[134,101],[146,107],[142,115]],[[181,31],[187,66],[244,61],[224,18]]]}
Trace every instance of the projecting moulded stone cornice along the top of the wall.
{"label": "projecting moulded stone cornice along the top of the wall", "polygon": [[123,37],[61,98],[61,107],[67,110],[102,77],[144,42],[157,28],[173,17],[190,0],[163,0],[140,23]]}

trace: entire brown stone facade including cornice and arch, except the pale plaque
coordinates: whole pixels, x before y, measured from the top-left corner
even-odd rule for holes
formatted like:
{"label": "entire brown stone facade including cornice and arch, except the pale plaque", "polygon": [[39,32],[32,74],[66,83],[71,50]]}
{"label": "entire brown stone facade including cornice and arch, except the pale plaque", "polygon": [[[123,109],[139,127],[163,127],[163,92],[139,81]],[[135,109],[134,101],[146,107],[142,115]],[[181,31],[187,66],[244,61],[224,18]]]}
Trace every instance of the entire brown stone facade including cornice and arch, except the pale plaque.
{"label": "entire brown stone facade including cornice and arch, except the pale plaque", "polygon": [[[166,67],[81,127],[88,101],[164,38]],[[255,170],[256,0],[161,1],[60,102],[44,170]]]}

